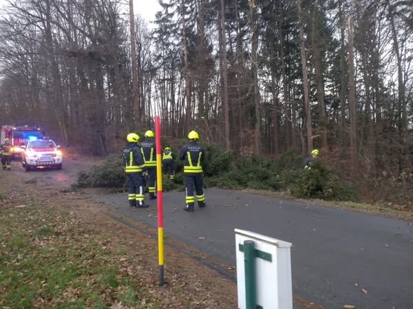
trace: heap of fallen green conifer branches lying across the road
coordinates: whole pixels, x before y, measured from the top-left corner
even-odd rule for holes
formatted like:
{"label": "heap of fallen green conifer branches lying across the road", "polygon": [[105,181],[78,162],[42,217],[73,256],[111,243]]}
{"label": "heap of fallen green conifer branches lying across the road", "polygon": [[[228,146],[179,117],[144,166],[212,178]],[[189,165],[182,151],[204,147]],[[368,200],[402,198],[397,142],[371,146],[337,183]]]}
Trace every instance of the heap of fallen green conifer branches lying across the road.
{"label": "heap of fallen green conifer branches lying across the road", "polygon": [[[287,191],[295,198],[319,198],[323,200],[359,200],[361,187],[370,187],[382,192],[394,191],[395,201],[407,202],[405,178],[399,181],[391,177],[371,178],[357,182],[343,180],[333,169],[328,158],[314,160],[312,168],[304,169],[304,157],[293,150],[286,151],[276,159],[234,157],[231,151],[224,151],[215,145],[203,145],[206,152],[204,162],[204,186],[223,189],[254,189],[266,191]],[[178,149],[178,147],[176,148]],[[178,150],[173,149],[174,152]],[[114,187],[126,189],[123,158],[108,156],[105,162],[78,174],[78,187]],[[409,174],[410,175],[410,174]],[[408,178],[408,177],[407,177]],[[182,162],[176,160],[175,180],[163,177],[164,191],[182,190]],[[385,199],[383,194],[377,195]]]}

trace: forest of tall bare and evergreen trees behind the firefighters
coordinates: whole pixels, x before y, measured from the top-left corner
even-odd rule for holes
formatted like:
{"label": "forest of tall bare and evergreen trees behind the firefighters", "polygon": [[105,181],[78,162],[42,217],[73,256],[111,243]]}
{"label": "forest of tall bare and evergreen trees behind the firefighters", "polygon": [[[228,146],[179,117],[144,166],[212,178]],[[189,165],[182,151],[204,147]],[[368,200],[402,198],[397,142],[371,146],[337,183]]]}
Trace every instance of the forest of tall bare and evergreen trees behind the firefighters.
{"label": "forest of tall bare and evergreen trees behind the firefighters", "polygon": [[[412,209],[412,0],[158,2],[149,27],[131,0],[6,1],[0,123],[107,156],[160,116],[229,181],[262,167],[255,189],[310,177]],[[325,173],[301,169],[313,148]]]}

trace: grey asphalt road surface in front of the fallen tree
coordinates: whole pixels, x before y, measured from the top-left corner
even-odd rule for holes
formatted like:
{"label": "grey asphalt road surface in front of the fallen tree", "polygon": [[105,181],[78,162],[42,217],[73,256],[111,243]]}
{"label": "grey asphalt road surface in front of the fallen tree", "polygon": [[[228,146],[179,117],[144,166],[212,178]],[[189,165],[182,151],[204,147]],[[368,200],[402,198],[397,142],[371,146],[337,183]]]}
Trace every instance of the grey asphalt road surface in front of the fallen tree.
{"label": "grey asphalt road surface in front of the fallen tree", "polygon": [[[324,308],[413,308],[413,224],[250,193],[208,189],[208,206],[182,211],[183,192],[163,194],[165,237],[236,264],[234,228],[293,243],[293,292]],[[156,227],[156,201],[131,211],[126,194],[94,194],[121,215]],[[165,261],[167,267],[167,260]]]}

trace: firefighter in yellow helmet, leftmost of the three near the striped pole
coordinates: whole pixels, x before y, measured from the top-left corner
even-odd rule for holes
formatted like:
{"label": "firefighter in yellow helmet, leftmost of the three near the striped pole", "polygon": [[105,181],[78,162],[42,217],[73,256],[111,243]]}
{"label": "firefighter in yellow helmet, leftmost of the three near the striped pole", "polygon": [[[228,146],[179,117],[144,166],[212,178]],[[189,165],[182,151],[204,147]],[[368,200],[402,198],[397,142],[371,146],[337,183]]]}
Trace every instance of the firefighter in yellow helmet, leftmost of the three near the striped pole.
{"label": "firefighter in yellow helmet, leftmost of the three near the striped pole", "polygon": [[129,133],[126,139],[128,143],[123,148],[123,159],[125,160],[126,183],[129,191],[127,195],[129,206],[147,208],[148,205],[143,201],[142,170],[145,167],[145,161],[138,145],[139,136],[136,133]]}

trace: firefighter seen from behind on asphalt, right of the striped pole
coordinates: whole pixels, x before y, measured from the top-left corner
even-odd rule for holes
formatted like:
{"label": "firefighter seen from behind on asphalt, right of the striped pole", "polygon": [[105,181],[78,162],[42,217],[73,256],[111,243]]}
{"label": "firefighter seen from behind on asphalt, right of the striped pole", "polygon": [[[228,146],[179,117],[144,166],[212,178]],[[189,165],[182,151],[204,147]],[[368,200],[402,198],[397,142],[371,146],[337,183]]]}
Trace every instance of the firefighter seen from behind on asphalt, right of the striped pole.
{"label": "firefighter seen from behind on asphalt, right of the striped pole", "polygon": [[205,207],[204,195],[204,175],[202,164],[204,163],[205,150],[198,143],[198,133],[191,131],[188,134],[189,143],[180,149],[178,158],[184,163],[184,184],[185,184],[185,202],[184,211],[193,211],[195,197],[193,196],[193,187],[195,187],[196,199],[198,206]]}

